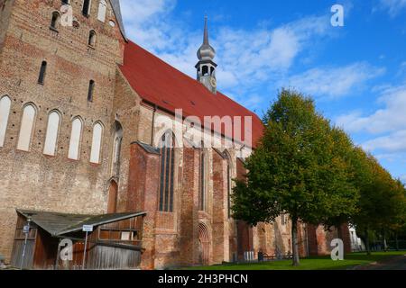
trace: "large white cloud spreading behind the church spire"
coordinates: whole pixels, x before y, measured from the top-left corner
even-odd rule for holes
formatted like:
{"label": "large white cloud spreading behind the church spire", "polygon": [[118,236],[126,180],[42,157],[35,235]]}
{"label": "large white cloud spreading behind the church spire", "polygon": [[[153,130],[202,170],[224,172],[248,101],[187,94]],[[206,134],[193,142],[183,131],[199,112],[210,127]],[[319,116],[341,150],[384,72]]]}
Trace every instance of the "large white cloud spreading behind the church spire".
{"label": "large white cloud spreading behind the church spire", "polygon": [[[175,0],[123,0],[125,29],[129,39],[195,77],[203,27],[189,29],[171,14],[175,6]],[[300,53],[332,32],[330,28],[328,16],[309,16],[272,29],[209,27],[210,42],[217,50],[219,89],[244,102],[244,94],[255,94],[258,85],[287,73]],[[252,103],[248,107],[253,109],[256,102],[248,101]]]}

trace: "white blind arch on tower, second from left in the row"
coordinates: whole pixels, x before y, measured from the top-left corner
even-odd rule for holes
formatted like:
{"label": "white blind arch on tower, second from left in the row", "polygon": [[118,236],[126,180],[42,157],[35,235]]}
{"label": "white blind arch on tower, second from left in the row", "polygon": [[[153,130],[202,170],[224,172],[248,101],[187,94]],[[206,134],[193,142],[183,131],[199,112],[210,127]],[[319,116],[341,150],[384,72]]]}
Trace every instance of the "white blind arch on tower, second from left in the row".
{"label": "white blind arch on tower, second from left in the row", "polygon": [[23,108],[23,118],[21,121],[20,134],[18,136],[17,149],[29,151],[32,139],[32,130],[37,110],[32,103],[25,105]]}

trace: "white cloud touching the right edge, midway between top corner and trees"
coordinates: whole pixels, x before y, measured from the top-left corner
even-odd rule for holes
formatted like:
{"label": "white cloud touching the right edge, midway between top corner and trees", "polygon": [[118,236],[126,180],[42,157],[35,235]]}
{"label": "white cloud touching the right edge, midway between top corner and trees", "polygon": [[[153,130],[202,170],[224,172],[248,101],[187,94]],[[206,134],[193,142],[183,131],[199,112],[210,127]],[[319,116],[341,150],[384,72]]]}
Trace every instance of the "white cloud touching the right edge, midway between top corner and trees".
{"label": "white cloud touching the right edge, midway between top corner and trees", "polygon": [[387,133],[406,129],[406,85],[386,87],[379,98],[383,108],[370,115],[352,112],[337,118],[348,131]]}

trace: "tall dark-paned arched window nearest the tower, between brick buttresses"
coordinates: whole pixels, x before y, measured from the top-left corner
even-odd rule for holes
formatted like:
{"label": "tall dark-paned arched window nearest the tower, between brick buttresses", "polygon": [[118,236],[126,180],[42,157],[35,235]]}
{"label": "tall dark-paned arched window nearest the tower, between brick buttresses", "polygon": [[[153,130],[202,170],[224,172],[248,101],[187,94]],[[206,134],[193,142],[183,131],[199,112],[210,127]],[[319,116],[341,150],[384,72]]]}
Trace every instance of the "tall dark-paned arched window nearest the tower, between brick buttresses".
{"label": "tall dark-paned arched window nearest the tower, between brick buttresses", "polygon": [[173,191],[175,173],[175,136],[171,130],[161,137],[161,185],[160,211],[173,212]]}

